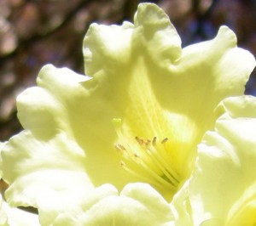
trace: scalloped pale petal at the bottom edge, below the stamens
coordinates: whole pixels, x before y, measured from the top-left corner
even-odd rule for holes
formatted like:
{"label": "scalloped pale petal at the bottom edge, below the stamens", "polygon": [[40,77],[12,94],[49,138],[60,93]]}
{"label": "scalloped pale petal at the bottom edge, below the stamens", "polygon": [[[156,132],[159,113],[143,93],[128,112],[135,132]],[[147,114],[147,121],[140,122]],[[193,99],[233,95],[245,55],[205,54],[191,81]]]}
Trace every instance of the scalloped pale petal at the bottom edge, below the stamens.
{"label": "scalloped pale petal at the bottom edge, below the stamens", "polygon": [[[63,196],[65,199],[65,197]],[[89,196],[74,195],[69,206],[53,197],[53,208],[41,210],[44,225],[173,225],[169,204],[148,184],[127,184],[118,194],[110,184],[94,189]],[[58,209],[58,210],[57,210]],[[56,211],[57,210],[57,211]],[[49,218],[53,217],[53,218]]]}

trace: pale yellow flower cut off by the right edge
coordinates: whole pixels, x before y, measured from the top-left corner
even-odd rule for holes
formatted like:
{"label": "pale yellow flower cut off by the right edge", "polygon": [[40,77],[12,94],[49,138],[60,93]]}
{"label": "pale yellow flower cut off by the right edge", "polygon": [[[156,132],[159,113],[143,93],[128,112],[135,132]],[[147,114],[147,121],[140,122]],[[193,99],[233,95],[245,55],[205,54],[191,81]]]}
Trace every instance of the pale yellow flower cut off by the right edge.
{"label": "pale yellow flower cut off by the right edge", "polygon": [[256,98],[224,99],[186,186],[173,201],[175,225],[255,225]]}

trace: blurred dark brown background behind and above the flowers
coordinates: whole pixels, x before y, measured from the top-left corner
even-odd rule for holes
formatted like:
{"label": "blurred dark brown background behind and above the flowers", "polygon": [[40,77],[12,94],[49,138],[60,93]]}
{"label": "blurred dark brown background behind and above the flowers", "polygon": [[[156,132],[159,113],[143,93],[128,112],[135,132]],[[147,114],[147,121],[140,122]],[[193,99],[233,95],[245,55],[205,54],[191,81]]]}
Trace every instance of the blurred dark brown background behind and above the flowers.
{"label": "blurred dark brown background behind and above the flowers", "polygon": [[[143,2],[166,11],[183,46],[211,39],[220,25],[228,25],[238,45],[256,55],[256,0],[0,0],[0,141],[21,130],[16,96],[36,84],[43,65],[83,74],[82,42],[89,25],[132,21]],[[246,93],[256,96],[255,71]]]}

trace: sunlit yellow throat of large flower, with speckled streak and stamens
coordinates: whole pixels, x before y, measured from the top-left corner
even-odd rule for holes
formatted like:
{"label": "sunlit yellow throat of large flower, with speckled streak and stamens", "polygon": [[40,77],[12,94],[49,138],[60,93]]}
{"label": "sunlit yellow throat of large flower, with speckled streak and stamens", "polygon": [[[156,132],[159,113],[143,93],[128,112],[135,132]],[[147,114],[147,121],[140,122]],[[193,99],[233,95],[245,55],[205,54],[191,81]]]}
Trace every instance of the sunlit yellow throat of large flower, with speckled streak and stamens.
{"label": "sunlit yellow throat of large flower, with speckled streak and stamens", "polygon": [[127,102],[122,103],[122,114],[113,119],[114,146],[126,171],[170,199],[194,164],[198,131],[189,116],[163,108],[161,89],[152,79],[157,75],[147,70],[142,59],[129,76]]}

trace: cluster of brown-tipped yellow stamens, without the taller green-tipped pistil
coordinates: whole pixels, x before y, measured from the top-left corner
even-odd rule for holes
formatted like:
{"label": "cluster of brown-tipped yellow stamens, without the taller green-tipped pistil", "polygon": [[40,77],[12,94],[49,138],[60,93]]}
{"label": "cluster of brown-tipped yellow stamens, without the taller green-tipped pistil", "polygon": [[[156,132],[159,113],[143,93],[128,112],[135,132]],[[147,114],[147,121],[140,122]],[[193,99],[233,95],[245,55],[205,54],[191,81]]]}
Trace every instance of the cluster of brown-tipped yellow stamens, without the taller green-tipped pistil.
{"label": "cluster of brown-tipped yellow stamens, without the taller green-tipped pistil", "polygon": [[160,190],[176,190],[180,177],[167,161],[167,142],[168,138],[159,140],[157,137],[135,137],[129,144],[115,144],[115,148],[125,159],[121,161],[125,170]]}

